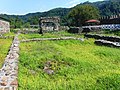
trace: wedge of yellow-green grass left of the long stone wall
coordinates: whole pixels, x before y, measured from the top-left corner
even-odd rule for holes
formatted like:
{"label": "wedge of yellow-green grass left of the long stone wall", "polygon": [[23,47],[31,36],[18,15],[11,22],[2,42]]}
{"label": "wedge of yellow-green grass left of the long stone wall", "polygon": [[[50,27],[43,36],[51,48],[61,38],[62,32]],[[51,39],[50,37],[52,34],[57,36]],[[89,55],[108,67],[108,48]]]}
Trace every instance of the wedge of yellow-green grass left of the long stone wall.
{"label": "wedge of yellow-green grass left of the long stone wall", "polygon": [[12,39],[0,39],[0,68],[5,60],[11,43]]}

